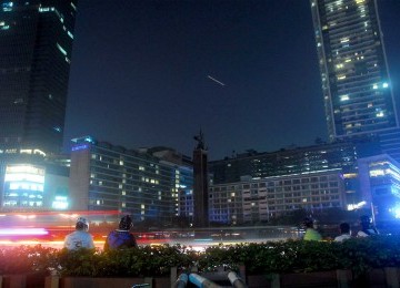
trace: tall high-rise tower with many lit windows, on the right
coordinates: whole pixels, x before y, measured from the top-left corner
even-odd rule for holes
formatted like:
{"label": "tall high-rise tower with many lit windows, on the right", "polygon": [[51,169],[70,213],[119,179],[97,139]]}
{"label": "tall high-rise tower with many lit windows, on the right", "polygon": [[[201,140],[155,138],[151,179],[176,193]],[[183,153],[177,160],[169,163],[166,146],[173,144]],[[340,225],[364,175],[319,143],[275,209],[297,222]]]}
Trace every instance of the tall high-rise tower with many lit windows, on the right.
{"label": "tall high-rise tower with many lit windows, on the right", "polygon": [[399,122],[377,1],[310,2],[330,141],[377,136],[399,160]]}

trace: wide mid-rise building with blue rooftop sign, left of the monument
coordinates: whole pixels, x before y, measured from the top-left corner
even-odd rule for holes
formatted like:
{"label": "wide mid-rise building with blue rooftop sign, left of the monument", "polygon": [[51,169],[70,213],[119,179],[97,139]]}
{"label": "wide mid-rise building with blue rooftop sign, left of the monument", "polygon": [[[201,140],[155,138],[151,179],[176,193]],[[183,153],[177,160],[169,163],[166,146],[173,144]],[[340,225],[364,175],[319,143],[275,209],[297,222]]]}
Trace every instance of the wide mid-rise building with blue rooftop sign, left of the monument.
{"label": "wide mid-rise building with blue rooftop sign, left of the monument", "polygon": [[131,214],[134,222],[152,219],[159,224],[179,216],[179,192],[191,191],[193,185],[187,158],[166,160],[149,150],[127,150],[91,137],[73,142],[72,209],[119,210]]}

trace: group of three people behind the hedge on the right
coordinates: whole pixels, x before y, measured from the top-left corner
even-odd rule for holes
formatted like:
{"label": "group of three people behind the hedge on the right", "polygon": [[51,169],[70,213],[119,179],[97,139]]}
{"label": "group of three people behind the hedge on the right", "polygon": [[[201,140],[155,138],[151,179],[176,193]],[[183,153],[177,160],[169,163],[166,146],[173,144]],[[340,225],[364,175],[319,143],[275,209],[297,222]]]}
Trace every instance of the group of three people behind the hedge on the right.
{"label": "group of three people behind the hedge on the right", "polygon": [[[349,223],[341,223],[339,225],[339,235],[334,237],[333,241],[341,243],[351,238],[362,238],[369,237],[373,235],[378,235],[377,228],[372,225],[371,217],[368,215],[362,215],[359,222],[360,229],[356,235],[352,235]],[[317,230],[314,226],[314,220],[312,218],[306,218],[302,224],[306,233],[303,235],[303,240],[322,240],[321,234]]]}

